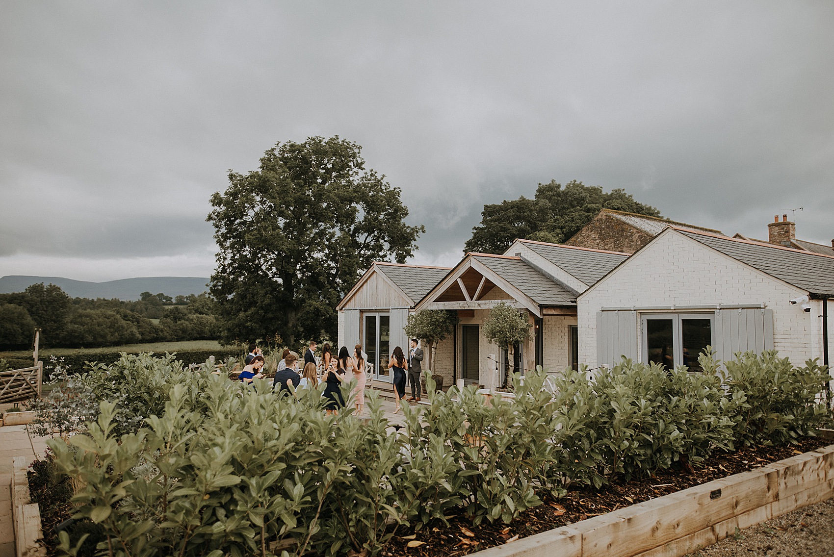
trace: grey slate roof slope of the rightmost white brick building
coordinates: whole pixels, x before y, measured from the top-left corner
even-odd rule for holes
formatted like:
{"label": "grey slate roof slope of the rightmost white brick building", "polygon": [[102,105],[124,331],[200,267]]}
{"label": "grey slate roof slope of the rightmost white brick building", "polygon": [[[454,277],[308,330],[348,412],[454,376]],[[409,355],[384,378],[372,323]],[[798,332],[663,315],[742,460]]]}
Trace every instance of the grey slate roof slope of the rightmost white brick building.
{"label": "grey slate roof slope of the rightmost white brick building", "polygon": [[679,230],[696,242],[738,259],[810,294],[834,296],[834,257],[754,243],[734,238]]}

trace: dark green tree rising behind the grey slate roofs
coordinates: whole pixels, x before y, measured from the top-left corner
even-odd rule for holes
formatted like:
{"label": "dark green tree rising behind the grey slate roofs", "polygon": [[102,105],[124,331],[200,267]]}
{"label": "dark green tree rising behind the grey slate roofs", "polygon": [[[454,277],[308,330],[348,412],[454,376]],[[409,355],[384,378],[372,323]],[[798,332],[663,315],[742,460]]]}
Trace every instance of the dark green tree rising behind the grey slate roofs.
{"label": "dark green tree rising behind the grey slate roofs", "polygon": [[585,186],[576,180],[565,186],[551,180],[539,184],[535,198],[521,196],[484,205],[480,225],[472,228],[465,250],[504,253],[515,238],[563,243],[590,223],[602,208],[661,216],[656,208],[638,203],[624,189],[605,193],[600,186]]}

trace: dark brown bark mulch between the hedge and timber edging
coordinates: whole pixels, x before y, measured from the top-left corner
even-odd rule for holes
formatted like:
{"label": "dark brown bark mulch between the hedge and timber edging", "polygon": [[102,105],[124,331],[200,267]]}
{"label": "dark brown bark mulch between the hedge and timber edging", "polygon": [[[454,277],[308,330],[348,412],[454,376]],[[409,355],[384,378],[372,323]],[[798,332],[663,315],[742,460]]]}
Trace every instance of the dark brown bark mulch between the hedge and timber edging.
{"label": "dark brown bark mulch between the hedge and timber edging", "polygon": [[[713,454],[706,461],[706,466],[696,468],[689,474],[677,466],[658,471],[651,478],[615,482],[600,489],[571,489],[561,499],[543,497],[544,504],[526,510],[510,524],[499,520],[492,524],[485,521],[478,526],[473,526],[465,516],[455,515],[449,520],[449,526],[430,525],[416,533],[404,531],[402,535],[391,540],[383,555],[384,557],[456,557],[474,553],[481,549],[505,544],[510,539],[525,538],[591,516],[609,513],[631,504],[704,484],[713,479],[726,478],[731,474],[760,468],[777,460],[825,447],[830,443],[823,439],[811,438],[802,439],[799,444],[789,446],[746,447],[734,453]],[[408,547],[409,541],[413,540],[423,541],[425,544]]]}

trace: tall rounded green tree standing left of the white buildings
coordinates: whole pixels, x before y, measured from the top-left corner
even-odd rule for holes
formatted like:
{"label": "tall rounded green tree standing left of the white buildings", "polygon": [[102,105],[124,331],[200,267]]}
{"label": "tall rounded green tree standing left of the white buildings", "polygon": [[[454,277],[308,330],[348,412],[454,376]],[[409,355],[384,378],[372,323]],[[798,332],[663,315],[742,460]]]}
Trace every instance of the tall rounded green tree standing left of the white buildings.
{"label": "tall rounded green tree standing left of the white buildings", "polygon": [[207,220],[219,246],[209,288],[223,339],[334,339],[335,306],[378,260],[403,263],[425,228],[361,147],[338,136],[277,143],[258,170],[229,173]]}

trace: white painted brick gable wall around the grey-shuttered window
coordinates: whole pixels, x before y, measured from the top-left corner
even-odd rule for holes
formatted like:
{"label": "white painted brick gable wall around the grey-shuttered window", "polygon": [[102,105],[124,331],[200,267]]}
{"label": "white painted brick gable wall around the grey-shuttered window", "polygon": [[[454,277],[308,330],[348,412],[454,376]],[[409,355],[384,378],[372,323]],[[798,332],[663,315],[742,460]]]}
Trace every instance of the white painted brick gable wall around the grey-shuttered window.
{"label": "white painted brick gable wall around the grey-shuttered window", "polygon": [[821,357],[821,342],[812,340],[816,336],[814,330],[820,329],[815,320],[819,320],[821,312],[805,313],[788,302],[803,294],[806,293],[800,289],[667,230],[615,273],[580,295],[580,364],[598,364],[596,313],[600,308],[761,303],[773,310],[774,348],[792,363],[804,364],[808,358]]}

